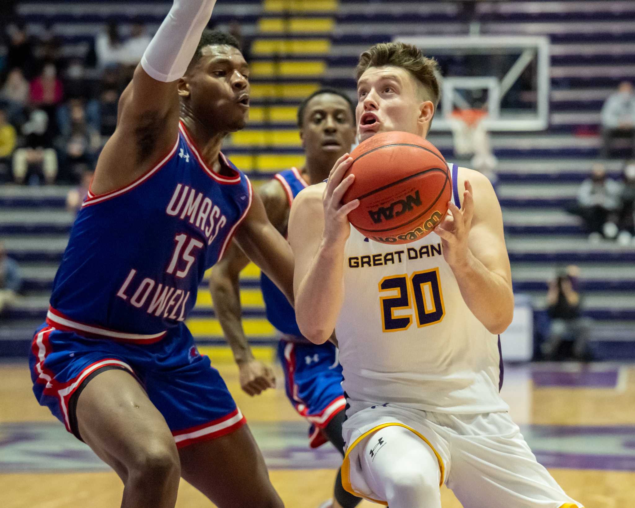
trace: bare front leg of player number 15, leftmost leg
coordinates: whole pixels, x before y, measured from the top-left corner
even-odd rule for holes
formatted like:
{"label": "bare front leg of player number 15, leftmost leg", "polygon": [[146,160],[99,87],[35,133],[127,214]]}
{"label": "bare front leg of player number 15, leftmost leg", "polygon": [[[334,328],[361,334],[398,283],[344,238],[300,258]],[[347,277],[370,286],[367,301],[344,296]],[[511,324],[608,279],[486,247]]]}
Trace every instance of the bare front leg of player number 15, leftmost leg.
{"label": "bare front leg of player number 15, leftmost leg", "polygon": [[130,373],[98,373],[84,385],[75,414],[83,441],[122,479],[122,508],[175,505],[177,446],[163,416]]}

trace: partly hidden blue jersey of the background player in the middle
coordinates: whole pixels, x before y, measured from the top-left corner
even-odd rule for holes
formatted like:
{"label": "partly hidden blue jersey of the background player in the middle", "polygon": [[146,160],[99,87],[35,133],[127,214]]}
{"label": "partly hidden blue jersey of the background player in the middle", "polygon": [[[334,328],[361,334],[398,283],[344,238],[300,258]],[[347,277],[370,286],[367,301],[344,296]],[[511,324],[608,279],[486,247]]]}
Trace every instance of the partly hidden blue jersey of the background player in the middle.
{"label": "partly hidden blue jersey of the background player in the middle", "polygon": [[[296,168],[282,171],[274,178],[280,182],[284,192],[286,192],[289,206],[293,203],[293,198],[298,195],[298,192],[307,187],[307,183]],[[269,323],[282,333],[302,337],[302,332],[295,321],[293,307],[291,307],[282,291],[264,273],[260,275],[260,288],[262,297],[265,300]]]}

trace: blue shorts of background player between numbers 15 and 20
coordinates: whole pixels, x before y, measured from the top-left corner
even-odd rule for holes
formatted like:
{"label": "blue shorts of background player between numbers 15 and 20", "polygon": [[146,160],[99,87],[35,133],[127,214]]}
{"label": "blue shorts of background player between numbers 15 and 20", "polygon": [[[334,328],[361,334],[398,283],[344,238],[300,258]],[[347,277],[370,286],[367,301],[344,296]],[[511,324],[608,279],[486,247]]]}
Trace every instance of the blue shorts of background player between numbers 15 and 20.
{"label": "blue shorts of background player between numbers 15 and 20", "polygon": [[322,429],[346,406],[337,348],[331,342],[318,345],[281,340],[278,358],[284,370],[286,396],[311,424],[309,445],[318,448],[328,441]]}

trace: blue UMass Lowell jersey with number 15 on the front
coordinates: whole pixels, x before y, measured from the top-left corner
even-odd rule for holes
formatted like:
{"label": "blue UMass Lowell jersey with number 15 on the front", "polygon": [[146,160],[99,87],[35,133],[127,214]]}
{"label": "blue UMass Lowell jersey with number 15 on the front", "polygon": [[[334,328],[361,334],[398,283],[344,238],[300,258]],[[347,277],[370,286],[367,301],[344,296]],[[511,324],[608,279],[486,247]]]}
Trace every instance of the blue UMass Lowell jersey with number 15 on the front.
{"label": "blue UMass Lowell jersey with number 15 on the front", "polygon": [[248,178],[203,161],[183,123],[176,144],[124,189],[89,192],[55,276],[47,321],[84,335],[149,343],[179,326],[206,269],[247,215]]}

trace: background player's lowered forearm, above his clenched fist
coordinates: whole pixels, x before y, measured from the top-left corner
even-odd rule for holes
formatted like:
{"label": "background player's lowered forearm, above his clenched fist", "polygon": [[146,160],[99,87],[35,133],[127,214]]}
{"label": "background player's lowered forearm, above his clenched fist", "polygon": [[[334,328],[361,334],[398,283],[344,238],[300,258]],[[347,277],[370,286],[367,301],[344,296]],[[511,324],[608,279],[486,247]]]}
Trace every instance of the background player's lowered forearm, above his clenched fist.
{"label": "background player's lowered forearm, above his clenched fist", "polygon": [[238,277],[225,276],[222,273],[210,277],[210,292],[214,302],[214,311],[220,321],[225,340],[234,354],[236,363],[253,359],[251,348],[243,330],[243,312],[240,304],[240,286]]}

